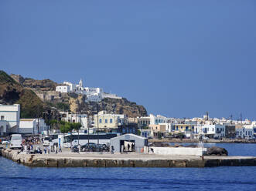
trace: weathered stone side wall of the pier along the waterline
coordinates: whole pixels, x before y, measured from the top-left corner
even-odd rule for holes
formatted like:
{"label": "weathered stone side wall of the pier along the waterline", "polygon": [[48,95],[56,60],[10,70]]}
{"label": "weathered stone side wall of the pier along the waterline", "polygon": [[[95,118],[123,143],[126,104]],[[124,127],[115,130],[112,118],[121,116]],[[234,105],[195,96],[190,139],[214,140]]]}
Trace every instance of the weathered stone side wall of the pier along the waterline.
{"label": "weathered stone side wall of the pier along the waterline", "polygon": [[82,157],[36,157],[2,150],[2,156],[29,167],[214,167],[214,166],[256,166],[256,157],[204,159],[84,159]]}

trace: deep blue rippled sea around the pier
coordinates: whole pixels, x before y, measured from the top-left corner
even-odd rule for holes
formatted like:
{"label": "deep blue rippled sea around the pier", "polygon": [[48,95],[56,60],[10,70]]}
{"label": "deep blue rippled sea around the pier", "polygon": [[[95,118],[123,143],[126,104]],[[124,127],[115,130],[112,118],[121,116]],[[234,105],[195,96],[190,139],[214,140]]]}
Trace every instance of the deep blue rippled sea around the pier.
{"label": "deep blue rippled sea around the pier", "polygon": [[[230,156],[256,144],[206,143]],[[256,166],[210,168],[29,168],[0,157],[0,190],[256,190]]]}

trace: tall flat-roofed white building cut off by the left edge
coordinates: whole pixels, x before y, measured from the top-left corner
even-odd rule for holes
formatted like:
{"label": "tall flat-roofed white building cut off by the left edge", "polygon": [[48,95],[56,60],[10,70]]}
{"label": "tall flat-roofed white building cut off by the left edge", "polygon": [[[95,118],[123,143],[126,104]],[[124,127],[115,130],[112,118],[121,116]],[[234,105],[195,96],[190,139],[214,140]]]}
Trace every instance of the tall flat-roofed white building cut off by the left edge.
{"label": "tall flat-roofed white building cut off by the left edge", "polygon": [[0,133],[19,132],[20,106],[0,104]]}

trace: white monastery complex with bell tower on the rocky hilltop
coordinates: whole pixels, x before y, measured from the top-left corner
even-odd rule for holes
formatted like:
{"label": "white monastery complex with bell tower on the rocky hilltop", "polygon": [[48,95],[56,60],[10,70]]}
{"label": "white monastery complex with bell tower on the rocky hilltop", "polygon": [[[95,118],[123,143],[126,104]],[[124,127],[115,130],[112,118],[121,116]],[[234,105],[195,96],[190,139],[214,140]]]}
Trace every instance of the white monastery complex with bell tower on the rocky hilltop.
{"label": "white monastery complex with bell tower on the rocky hilltop", "polygon": [[77,94],[87,95],[87,102],[100,102],[104,98],[121,99],[115,94],[105,93],[101,88],[89,88],[83,87],[82,79],[79,84],[73,84],[71,82],[63,82],[63,85],[56,86],[56,92],[74,92]]}

